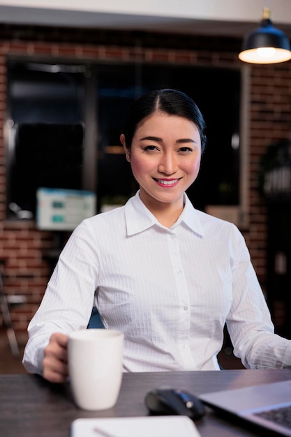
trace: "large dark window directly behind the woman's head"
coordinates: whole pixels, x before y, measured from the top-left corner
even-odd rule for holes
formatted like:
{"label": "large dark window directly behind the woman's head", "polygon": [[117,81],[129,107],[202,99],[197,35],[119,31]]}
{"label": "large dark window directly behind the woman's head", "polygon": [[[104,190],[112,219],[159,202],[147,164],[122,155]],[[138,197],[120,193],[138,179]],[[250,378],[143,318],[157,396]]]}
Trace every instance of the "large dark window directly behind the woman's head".
{"label": "large dark window directly behind the woman's head", "polygon": [[[124,114],[135,97],[163,87],[186,92],[207,123],[207,148],[200,174],[188,189],[198,209],[239,204],[239,139],[241,73],[226,68],[143,65],[98,68],[98,199],[137,188],[124,156],[110,153],[119,145]],[[117,182],[118,181],[118,182]]]}

